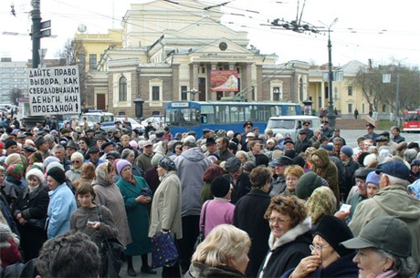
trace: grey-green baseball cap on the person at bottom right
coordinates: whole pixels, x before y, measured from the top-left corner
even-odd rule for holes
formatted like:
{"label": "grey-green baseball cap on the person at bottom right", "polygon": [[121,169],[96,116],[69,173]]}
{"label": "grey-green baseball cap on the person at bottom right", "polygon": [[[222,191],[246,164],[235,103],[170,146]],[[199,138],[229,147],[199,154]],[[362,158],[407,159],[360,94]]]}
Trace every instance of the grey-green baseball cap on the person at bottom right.
{"label": "grey-green baseball cap on the person at bottom right", "polygon": [[412,237],[404,221],[393,216],[380,216],[369,221],[359,236],[341,242],[348,249],[374,247],[395,256],[406,258],[411,254]]}

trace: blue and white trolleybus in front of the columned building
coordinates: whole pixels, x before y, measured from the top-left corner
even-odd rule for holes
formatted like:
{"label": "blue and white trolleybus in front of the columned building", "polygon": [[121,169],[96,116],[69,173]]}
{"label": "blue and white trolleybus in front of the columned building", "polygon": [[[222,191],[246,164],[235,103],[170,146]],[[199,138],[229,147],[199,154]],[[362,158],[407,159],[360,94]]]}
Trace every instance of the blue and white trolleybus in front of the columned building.
{"label": "blue and white trolleybus in front of the columned building", "polygon": [[165,125],[173,134],[203,129],[243,132],[250,120],[262,133],[272,116],[301,115],[301,107],[287,102],[172,101],[165,105]]}

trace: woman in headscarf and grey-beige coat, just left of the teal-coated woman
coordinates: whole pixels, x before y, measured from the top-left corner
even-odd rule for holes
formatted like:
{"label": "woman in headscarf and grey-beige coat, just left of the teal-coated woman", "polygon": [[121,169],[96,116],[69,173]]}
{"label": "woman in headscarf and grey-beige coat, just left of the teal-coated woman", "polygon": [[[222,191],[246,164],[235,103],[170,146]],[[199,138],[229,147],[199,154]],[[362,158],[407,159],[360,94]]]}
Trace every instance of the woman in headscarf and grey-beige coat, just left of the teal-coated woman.
{"label": "woman in headscarf and grey-beige coat, just left of the teal-coated woman", "polygon": [[95,203],[110,209],[118,230],[117,239],[127,245],[131,243],[131,233],[121,191],[112,180],[115,170],[110,162],[103,162],[97,167],[95,173],[96,178],[92,183],[96,194]]}

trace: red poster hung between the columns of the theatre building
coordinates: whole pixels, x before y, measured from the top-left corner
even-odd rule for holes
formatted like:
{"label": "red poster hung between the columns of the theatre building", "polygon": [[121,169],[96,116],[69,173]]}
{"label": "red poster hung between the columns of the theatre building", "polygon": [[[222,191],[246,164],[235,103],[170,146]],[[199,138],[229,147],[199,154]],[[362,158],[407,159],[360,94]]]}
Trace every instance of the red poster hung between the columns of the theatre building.
{"label": "red poster hung between the columns of the theatre building", "polygon": [[237,92],[237,71],[212,70],[210,88],[215,92]]}

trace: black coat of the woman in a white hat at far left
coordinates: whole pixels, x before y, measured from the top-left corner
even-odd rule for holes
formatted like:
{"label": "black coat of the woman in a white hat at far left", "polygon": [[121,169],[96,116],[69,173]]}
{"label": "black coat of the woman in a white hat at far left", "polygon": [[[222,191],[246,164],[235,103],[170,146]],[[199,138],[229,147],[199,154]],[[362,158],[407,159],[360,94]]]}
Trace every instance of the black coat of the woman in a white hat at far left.
{"label": "black coat of the woman in a white hat at far left", "polygon": [[42,244],[47,241],[47,231],[44,229],[47,219],[49,196],[47,188],[42,185],[37,190],[29,192],[29,189],[22,191],[13,204],[12,213],[14,219],[16,215],[22,213],[26,220],[25,225],[16,221],[20,232],[20,246],[23,250],[25,261],[37,258]]}

